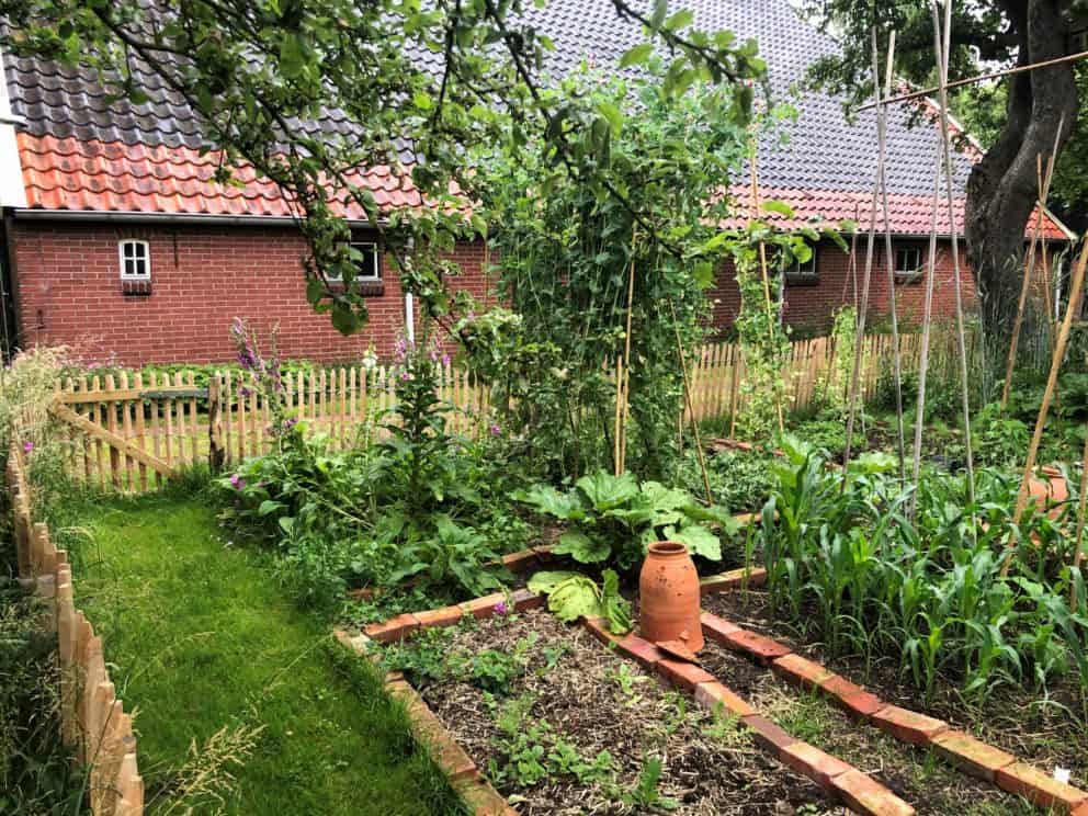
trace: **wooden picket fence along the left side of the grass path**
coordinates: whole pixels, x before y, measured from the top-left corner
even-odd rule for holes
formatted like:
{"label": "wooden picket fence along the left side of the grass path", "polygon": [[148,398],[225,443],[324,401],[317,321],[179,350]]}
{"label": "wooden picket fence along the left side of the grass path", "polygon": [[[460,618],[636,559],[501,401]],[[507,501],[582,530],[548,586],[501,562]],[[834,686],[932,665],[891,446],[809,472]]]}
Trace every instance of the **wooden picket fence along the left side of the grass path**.
{"label": "wooden picket fence along the left side of the grass path", "polygon": [[144,780],[136,762],[132,715],[125,713],[102,657],[102,638],[75,607],[68,554],[34,523],[23,452],[8,454],[19,575],[45,602],[44,625],[58,639],[60,735],[88,773],[94,816],[141,816]]}

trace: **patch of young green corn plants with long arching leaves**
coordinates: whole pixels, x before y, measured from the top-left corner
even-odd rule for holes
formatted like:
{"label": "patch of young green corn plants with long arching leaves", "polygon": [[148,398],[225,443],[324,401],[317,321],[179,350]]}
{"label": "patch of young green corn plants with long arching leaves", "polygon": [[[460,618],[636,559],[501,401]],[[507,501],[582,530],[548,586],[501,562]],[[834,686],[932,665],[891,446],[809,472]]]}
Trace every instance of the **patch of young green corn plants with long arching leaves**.
{"label": "patch of young green corn plants with long arching leaves", "polygon": [[1013,523],[1018,483],[996,471],[979,473],[970,506],[954,475],[927,472],[905,487],[884,457],[832,469],[824,452],[789,438],[783,447],[752,533],[777,609],[819,627],[832,651],[866,664],[876,650],[899,655],[927,699],[942,677],[982,700],[1002,684],[1045,690],[1070,672],[1088,698],[1088,609],[1064,512],[1030,509]]}

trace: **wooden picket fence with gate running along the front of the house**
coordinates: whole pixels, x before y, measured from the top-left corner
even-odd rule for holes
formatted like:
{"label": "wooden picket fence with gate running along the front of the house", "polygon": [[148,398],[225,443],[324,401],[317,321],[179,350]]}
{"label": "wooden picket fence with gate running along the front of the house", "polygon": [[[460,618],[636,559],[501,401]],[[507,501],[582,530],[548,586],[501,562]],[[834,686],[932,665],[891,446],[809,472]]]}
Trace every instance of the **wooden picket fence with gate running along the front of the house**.
{"label": "wooden picket fence with gate running along the front of the house", "polygon": [[[933,355],[952,353],[952,338],[937,333]],[[902,338],[904,371],[918,365],[919,338]],[[792,344],[783,376],[790,410],[804,409],[819,395],[835,363],[834,340],[818,337]],[[892,366],[892,342],[884,335],[865,338],[862,387],[872,398],[881,371]],[[698,419],[743,410],[745,364],[734,343],[702,347],[689,360],[691,397]],[[456,409],[449,421],[469,437],[486,433],[489,393],[465,371],[440,366],[439,396]],[[297,372],[284,377],[291,415],[311,433],[325,434],[333,449],[366,444],[377,420],[395,403],[395,373],[385,366],[350,365]],[[242,372],[213,375],[199,385],[193,372],[147,377],[81,377],[57,385],[53,413],[71,429],[69,467],[102,490],[146,490],[186,466],[214,461],[231,465],[270,450],[271,407],[250,387]]]}

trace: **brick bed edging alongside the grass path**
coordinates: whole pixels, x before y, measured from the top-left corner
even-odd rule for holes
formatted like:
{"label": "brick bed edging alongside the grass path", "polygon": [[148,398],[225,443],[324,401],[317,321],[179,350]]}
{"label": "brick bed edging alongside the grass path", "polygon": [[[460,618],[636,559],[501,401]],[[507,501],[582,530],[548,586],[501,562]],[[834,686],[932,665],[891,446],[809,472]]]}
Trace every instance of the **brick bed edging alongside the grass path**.
{"label": "brick bed edging alongside the grass path", "polygon": [[[410,632],[411,630],[406,634]],[[351,635],[339,627],[333,634],[337,641],[360,657],[377,660],[377,654],[371,648],[374,642],[371,637],[365,634]],[[386,693],[404,705],[412,737],[431,752],[434,762],[450,779],[451,786],[469,813],[474,816],[518,816],[518,812],[484,778],[472,757],[431,711],[419,692],[405,680],[404,675],[390,671],[385,676],[384,684]]]}

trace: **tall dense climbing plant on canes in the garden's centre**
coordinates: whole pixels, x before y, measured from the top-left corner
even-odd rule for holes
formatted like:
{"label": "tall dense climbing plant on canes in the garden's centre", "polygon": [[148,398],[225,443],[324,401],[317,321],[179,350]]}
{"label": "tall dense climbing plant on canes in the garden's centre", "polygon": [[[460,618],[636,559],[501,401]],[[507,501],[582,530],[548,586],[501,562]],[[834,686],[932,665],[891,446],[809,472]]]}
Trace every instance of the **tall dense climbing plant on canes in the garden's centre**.
{"label": "tall dense climbing plant on canes in the garden's centre", "polygon": [[661,478],[675,455],[677,333],[690,364],[707,322],[704,291],[728,248],[717,228],[730,211],[721,190],[747,139],[729,94],[693,82],[678,97],[667,90],[675,81],[651,61],[633,80],[583,67],[559,90],[605,112],[610,149],[601,160],[634,208],[553,162],[525,160],[531,150],[479,162],[499,290],[519,317],[491,311],[460,328],[487,338],[469,343],[471,361],[498,390],[503,427],[521,431],[555,477],[613,467],[621,355],[630,363],[628,466]]}

